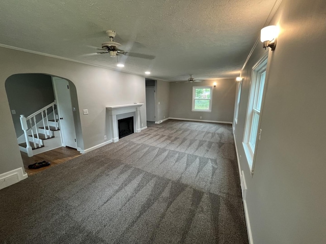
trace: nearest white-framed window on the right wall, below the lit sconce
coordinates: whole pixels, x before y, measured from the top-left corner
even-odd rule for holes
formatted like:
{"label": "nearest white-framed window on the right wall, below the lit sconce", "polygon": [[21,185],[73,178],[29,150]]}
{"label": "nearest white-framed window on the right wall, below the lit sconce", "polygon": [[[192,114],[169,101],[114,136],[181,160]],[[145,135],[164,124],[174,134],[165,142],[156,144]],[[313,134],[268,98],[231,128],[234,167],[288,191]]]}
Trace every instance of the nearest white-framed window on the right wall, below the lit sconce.
{"label": "nearest white-framed window on the right wall, below the lit sconce", "polygon": [[[248,108],[247,108],[247,116],[246,116],[246,124],[244,127],[244,135],[243,135],[243,149],[246,154],[247,161],[251,173],[254,172],[255,167],[255,157],[257,151],[257,142],[260,133],[258,132],[260,129],[260,119],[261,119],[261,110],[263,107],[263,99],[265,94],[266,87],[266,77],[267,77],[267,60],[268,60],[268,52],[266,52],[261,59],[257,62],[257,64],[252,69],[252,78],[250,82],[250,92],[249,92],[249,100],[248,100]],[[261,86],[261,76],[264,74],[263,87]],[[261,93],[261,102],[258,103],[258,90],[262,90]],[[260,107],[260,108],[259,108]],[[254,116],[257,117],[257,127],[253,128]],[[256,132],[252,131],[252,129],[257,130]],[[252,133],[256,133],[255,137],[252,137]],[[254,141],[254,144],[252,143]]]}

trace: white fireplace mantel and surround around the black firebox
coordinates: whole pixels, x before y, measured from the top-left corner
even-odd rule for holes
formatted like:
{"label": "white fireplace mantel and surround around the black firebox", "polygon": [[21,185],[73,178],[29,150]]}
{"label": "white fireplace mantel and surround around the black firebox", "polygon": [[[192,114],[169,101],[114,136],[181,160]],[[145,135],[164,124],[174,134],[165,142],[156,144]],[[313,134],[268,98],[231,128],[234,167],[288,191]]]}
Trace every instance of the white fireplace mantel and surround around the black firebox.
{"label": "white fireplace mantel and surround around the black firebox", "polygon": [[117,115],[124,113],[135,112],[135,125],[134,132],[141,132],[141,111],[140,108],[143,106],[143,103],[134,103],[134,104],[125,104],[125,105],[116,105],[116,106],[106,106],[108,115],[110,115],[111,123],[111,135],[112,141],[119,141],[119,131],[118,131],[118,120]]}

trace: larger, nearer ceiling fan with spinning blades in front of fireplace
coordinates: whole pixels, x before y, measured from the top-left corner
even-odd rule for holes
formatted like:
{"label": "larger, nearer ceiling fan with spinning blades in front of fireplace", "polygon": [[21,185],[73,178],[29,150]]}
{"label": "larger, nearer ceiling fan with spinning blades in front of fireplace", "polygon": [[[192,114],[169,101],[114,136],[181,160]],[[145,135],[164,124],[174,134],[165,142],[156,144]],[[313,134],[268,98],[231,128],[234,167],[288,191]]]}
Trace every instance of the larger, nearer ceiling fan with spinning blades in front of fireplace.
{"label": "larger, nearer ceiling fan with spinning blades in front of fireplace", "polygon": [[101,49],[98,48],[98,50],[103,50],[103,52],[98,52],[100,54],[108,53],[108,54],[110,54],[111,57],[116,57],[119,54],[123,54],[126,56],[140,57],[140,58],[146,58],[146,59],[154,59],[155,58],[155,56],[153,56],[153,55],[134,53],[134,52],[126,52],[122,49],[119,49],[121,44],[114,41],[114,38],[117,35],[115,31],[108,30],[108,31],[106,31],[106,35],[108,36],[110,41],[103,42],[102,48]]}

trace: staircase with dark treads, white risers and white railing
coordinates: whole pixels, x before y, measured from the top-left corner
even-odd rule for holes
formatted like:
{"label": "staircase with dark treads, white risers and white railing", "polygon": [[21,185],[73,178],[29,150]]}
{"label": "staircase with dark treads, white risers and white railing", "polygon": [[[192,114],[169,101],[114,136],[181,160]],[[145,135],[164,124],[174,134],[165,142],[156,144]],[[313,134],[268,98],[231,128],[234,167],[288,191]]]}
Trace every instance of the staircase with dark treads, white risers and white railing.
{"label": "staircase with dark treads, white risers and white railing", "polygon": [[[58,133],[60,128],[57,118],[58,115],[56,113],[56,106],[57,103],[55,100],[53,103],[50,103],[27,117],[25,117],[25,115],[20,115],[21,129],[24,131],[24,142],[19,143],[18,140],[18,145],[20,151],[23,151],[29,157],[46,151],[39,150],[38,153],[33,152],[33,150],[44,147],[45,140],[55,138],[56,135],[60,137],[60,133]],[[49,148],[48,150],[50,149],[53,148]]]}

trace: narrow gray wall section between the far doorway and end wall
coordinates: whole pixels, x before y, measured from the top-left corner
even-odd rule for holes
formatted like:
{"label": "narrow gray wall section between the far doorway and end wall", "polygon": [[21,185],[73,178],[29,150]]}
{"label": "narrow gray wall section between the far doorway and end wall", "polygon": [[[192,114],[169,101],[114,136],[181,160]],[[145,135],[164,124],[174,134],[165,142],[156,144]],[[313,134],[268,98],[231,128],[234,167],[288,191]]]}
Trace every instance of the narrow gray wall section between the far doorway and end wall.
{"label": "narrow gray wall section between the far doorway and end wall", "polygon": [[[156,81],[156,117],[155,121],[159,121],[169,117],[170,104],[170,82],[157,80]],[[159,102],[159,104],[158,104]]]}

